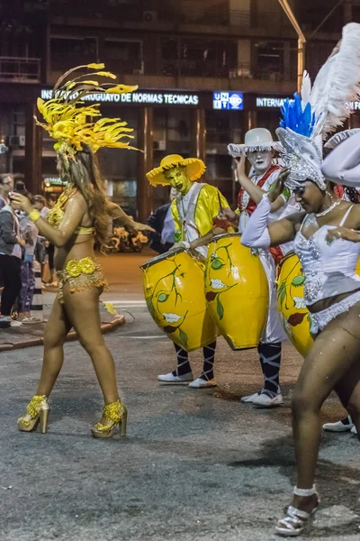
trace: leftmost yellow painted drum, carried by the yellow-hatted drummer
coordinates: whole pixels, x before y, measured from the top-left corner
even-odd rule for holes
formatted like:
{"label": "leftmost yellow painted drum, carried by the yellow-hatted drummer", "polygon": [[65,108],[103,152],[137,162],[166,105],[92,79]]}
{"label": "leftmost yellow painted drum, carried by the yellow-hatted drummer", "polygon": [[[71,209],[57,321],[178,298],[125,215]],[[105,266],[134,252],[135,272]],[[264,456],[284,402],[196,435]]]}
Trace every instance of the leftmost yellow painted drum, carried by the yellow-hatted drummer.
{"label": "leftmost yellow painted drum, carried by the yellow-hatted drummer", "polygon": [[187,352],[216,340],[206,308],[203,266],[180,249],[141,265],[148,311],[157,326]]}

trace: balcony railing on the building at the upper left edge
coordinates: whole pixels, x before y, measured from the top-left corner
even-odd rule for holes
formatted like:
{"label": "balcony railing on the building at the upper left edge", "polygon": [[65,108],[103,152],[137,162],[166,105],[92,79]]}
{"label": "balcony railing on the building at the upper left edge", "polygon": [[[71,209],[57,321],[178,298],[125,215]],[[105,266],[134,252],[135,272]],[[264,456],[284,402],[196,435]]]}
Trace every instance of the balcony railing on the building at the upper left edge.
{"label": "balcony railing on the building at the upper left edge", "polygon": [[0,81],[40,83],[41,60],[0,57]]}

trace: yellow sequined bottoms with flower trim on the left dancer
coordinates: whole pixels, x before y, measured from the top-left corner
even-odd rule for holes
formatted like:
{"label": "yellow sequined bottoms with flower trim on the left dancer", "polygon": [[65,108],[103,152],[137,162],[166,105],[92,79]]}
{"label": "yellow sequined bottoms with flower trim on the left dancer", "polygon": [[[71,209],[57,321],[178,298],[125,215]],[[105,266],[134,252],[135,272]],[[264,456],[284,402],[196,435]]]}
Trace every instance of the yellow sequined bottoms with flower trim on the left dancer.
{"label": "yellow sequined bottoms with flower trim on the left dancer", "polygon": [[58,300],[64,302],[64,284],[67,282],[71,293],[90,288],[107,289],[108,283],[103,276],[100,263],[92,257],[67,261],[64,271],[57,272]]}

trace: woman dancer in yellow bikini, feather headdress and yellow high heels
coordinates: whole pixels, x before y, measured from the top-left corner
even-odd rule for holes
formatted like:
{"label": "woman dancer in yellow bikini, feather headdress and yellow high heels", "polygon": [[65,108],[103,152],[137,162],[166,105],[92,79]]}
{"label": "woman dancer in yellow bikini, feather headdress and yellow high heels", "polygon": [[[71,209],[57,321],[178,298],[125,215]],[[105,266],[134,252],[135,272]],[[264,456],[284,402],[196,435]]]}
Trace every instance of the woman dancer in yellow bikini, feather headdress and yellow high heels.
{"label": "woman dancer in yellow bikini, feather headdress and yellow high heels", "polygon": [[[87,68],[103,69],[103,65],[90,64]],[[92,78],[94,75],[112,76],[103,71],[95,72]],[[103,391],[103,417],[94,425],[93,436],[110,437],[117,425],[121,428],[121,436],[126,435],[127,409],[119,398],[112,354],[104,344],[100,328],[99,296],[106,287],[106,280],[94,259],[94,240],[102,245],[106,242],[109,215],[121,217],[124,223],[131,222],[140,230],[148,229],[148,226],[132,222],[119,206],[105,197],[94,151],[105,146],[130,148],[120,140],[131,130],[124,128],[125,123],[119,123],[119,119],[86,122],[89,116],[100,116],[99,105],[86,106],[78,99],[94,93],[94,89],[96,93],[129,92],[134,87],[99,87],[98,83],[86,82],[82,77],[68,82],[61,78],[54,88],[54,97],[47,103],[38,102],[45,119],[45,124],[39,124],[58,139],[54,147],[58,172],[61,179],[67,181],[67,188],[49,211],[47,219],[31,206],[27,197],[14,194],[14,202],[28,213],[40,234],[56,247],[59,286],[44,335],[39,386],[26,415],[18,421],[19,430],[25,432],[34,430],[39,423],[41,433],[47,431],[48,397],[63,364],[67,333],[74,327],[80,344],[94,363]]]}

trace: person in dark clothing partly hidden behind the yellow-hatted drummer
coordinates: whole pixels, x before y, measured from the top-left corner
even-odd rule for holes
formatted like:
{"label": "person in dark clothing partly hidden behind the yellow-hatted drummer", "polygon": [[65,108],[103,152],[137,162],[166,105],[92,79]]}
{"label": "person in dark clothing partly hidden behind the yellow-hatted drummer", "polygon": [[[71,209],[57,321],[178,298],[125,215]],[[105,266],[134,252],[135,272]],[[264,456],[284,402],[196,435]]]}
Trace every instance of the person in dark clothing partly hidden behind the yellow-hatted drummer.
{"label": "person in dark clothing partly hidden behind the yellow-hatted drummer", "polygon": [[176,197],[175,188],[170,190],[170,203],[159,206],[157,210],[148,217],[147,224],[155,229],[154,233],[148,233],[150,248],[158,253],[165,253],[174,244],[175,225],[171,214],[171,202]]}

